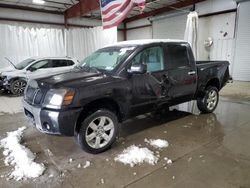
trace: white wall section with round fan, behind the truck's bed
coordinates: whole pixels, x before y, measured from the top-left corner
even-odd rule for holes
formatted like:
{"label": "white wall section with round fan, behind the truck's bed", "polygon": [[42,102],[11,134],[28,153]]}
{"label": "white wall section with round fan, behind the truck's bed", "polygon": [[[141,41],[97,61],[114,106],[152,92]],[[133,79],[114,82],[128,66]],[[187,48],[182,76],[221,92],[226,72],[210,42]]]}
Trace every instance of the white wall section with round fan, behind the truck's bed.
{"label": "white wall section with round fan, behind the truck's bed", "polygon": [[[230,73],[234,64],[235,16],[236,13],[227,13],[199,19],[198,59],[227,60]],[[208,37],[213,39],[211,48],[204,46]]]}

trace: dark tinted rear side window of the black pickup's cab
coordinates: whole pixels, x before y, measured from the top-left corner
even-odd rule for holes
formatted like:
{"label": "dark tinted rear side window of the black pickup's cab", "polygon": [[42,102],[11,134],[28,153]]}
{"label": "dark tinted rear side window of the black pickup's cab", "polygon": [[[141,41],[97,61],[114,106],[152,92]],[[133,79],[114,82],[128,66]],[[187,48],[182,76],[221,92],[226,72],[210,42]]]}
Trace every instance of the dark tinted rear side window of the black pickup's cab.
{"label": "dark tinted rear side window of the black pickup's cab", "polygon": [[189,66],[186,45],[169,44],[167,52],[167,65],[171,69]]}

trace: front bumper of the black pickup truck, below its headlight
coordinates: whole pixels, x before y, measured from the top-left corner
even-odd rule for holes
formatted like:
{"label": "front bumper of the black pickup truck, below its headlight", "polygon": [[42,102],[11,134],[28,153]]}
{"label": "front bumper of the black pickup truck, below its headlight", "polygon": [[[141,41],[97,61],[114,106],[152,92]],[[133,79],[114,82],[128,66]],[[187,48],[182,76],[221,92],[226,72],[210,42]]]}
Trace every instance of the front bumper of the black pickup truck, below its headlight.
{"label": "front bumper of the black pickup truck, below its headlight", "polygon": [[33,106],[23,100],[24,113],[39,131],[47,134],[74,136],[81,108],[52,110]]}

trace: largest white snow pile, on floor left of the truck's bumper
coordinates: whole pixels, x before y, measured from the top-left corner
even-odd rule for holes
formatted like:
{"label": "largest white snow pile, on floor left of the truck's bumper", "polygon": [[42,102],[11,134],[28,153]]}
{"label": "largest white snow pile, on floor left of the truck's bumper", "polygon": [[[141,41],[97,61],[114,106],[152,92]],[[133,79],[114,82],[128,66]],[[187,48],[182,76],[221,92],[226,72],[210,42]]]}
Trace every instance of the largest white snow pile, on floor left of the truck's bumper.
{"label": "largest white snow pile, on floor left of the truck's bumper", "polygon": [[26,178],[37,178],[45,170],[43,164],[34,162],[35,154],[20,144],[25,129],[26,127],[21,127],[16,131],[8,132],[7,137],[0,141],[0,147],[4,149],[5,165],[14,166],[9,179],[14,178],[17,181]]}

